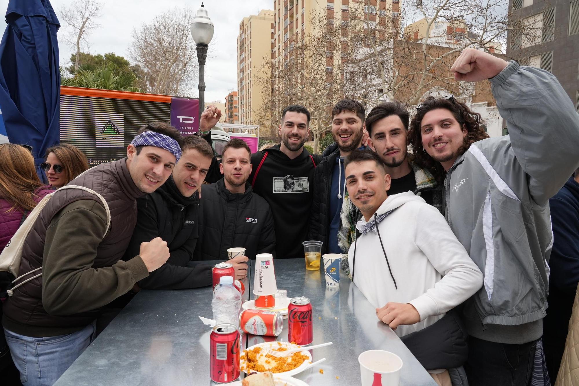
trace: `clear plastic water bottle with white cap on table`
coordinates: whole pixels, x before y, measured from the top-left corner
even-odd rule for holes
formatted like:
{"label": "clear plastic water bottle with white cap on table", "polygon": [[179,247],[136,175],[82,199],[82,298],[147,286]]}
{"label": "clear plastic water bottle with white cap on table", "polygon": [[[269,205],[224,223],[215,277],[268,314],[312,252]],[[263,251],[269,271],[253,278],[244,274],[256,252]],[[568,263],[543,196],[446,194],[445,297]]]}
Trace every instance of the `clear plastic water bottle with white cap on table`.
{"label": "clear plastic water bottle with white cap on table", "polygon": [[241,293],[233,286],[232,276],[221,276],[219,285],[213,294],[211,309],[215,325],[231,323],[237,326],[239,308],[241,307]]}

